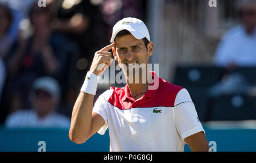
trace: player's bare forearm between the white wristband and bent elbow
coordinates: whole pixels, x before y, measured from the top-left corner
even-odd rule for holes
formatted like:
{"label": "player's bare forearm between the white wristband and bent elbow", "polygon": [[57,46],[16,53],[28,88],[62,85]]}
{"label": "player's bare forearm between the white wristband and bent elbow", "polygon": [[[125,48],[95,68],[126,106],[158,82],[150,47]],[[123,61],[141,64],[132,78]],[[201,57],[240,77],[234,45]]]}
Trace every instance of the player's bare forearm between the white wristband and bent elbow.
{"label": "player's bare forearm between the white wristband and bent elbow", "polygon": [[89,138],[94,95],[80,91],[73,107],[69,139],[84,143]]}

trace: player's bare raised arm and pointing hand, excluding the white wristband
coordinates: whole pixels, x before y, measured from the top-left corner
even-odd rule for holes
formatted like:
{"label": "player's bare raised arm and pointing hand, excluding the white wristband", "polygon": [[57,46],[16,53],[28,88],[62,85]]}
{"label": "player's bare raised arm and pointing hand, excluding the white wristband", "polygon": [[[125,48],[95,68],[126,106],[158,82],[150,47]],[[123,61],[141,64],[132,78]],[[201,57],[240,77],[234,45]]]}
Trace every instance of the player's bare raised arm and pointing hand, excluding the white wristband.
{"label": "player's bare raised arm and pointing hand, excluding the white wristband", "polygon": [[[96,52],[89,72],[93,76],[100,76],[105,69],[98,70],[98,65],[106,64],[110,66],[112,54],[109,51],[114,47],[114,43]],[[86,79],[85,79],[86,80]],[[69,129],[69,139],[74,143],[85,143],[94,133],[104,126],[104,119],[97,113],[92,113],[94,95],[80,91],[72,111],[71,127]]]}

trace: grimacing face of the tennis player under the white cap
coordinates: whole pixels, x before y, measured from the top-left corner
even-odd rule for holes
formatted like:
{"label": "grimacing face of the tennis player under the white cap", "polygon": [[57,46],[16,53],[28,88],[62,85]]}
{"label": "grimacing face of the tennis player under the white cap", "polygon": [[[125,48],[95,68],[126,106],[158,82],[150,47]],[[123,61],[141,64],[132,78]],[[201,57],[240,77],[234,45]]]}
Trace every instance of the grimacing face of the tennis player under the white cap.
{"label": "grimacing face of the tennis player under the white cap", "polygon": [[[144,41],[136,39],[133,35],[125,35],[118,37],[115,40],[115,48],[113,48],[113,55],[115,60],[118,61],[120,68],[125,73],[126,77],[129,76],[129,67],[134,67],[133,77],[135,77],[136,69],[140,68],[141,74],[144,70],[147,70],[147,64],[149,57],[154,51],[152,41],[148,43],[147,48]],[[146,72],[146,71],[145,71]]]}

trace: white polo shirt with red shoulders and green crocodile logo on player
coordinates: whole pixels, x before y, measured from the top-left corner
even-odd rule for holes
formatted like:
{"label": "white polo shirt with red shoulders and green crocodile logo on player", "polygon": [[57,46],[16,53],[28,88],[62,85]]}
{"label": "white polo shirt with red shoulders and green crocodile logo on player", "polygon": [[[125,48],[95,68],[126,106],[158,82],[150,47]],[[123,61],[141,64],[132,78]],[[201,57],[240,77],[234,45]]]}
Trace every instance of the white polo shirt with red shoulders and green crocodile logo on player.
{"label": "white polo shirt with red shoulders and green crocodile logo on player", "polygon": [[110,151],[184,151],[186,137],[204,132],[188,91],[161,78],[137,100],[128,85],[110,87],[93,112],[105,120],[98,133],[109,128]]}

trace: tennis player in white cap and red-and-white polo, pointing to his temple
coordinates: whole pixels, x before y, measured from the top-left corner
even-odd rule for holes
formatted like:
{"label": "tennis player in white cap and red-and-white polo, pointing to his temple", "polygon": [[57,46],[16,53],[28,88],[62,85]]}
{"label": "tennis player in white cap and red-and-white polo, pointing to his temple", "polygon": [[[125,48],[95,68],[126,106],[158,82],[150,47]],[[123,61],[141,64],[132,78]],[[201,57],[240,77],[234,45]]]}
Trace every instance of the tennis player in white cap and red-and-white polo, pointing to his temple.
{"label": "tennis player in white cap and red-and-white polo, pointing to his temple", "polygon": [[[73,107],[69,138],[80,144],[96,132],[104,135],[109,128],[110,151],[184,151],[185,143],[192,151],[208,151],[205,132],[188,91],[148,72],[154,45],[145,24],[136,18],[119,20],[110,42],[94,55]],[[127,85],[110,87],[93,106],[100,74],[105,70],[98,66],[110,66],[110,49]],[[146,73],[143,66],[137,73],[129,70],[129,66],[136,65],[146,65]],[[145,76],[151,82],[142,82]],[[136,77],[139,82],[132,82]]]}

